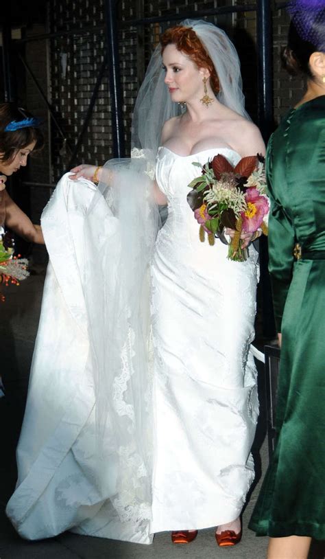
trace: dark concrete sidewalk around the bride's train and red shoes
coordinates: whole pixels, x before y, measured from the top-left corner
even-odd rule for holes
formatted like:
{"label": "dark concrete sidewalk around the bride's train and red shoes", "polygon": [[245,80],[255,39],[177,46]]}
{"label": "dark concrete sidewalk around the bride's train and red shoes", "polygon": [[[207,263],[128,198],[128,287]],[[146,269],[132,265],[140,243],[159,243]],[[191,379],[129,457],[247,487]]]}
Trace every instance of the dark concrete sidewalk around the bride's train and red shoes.
{"label": "dark concrete sidewalk around the bride's train and red shoes", "polygon": [[[265,409],[263,406],[263,369],[259,372],[261,416],[254,444],[259,483],[254,488],[243,514],[243,538],[239,545],[227,549],[218,548],[214,529],[201,530],[190,545],[174,546],[170,534],[157,534],[150,546],[122,543],[103,538],[77,536],[66,532],[56,538],[27,542],[14,532],[5,516],[5,503],[14,490],[16,466],[14,450],[19,437],[23,409],[27,393],[29,368],[38,327],[40,302],[46,266],[34,266],[34,273],[20,286],[3,290],[6,301],[0,306],[1,374],[5,384],[5,398],[0,399],[1,463],[0,463],[0,559],[263,559],[267,538],[256,538],[247,529],[252,507],[258,494],[261,471],[267,465],[265,442]],[[324,559],[322,545],[315,545],[313,559]],[[281,559],[281,558],[278,558]]]}

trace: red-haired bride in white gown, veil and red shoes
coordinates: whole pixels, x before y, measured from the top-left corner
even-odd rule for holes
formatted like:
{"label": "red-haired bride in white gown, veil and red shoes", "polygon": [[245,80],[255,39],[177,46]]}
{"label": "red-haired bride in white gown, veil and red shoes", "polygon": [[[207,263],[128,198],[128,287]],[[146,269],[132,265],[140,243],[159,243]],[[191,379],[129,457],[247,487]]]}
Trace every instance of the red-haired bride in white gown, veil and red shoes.
{"label": "red-haired bride in white gown, veil and red shoes", "polygon": [[43,213],[50,263],[7,514],[30,539],[189,543],[217,526],[234,545],[254,478],[257,255],[250,233],[245,262],[201,243],[186,202],[192,163],[265,149],[224,32],[184,21],[160,37],[133,145],[131,161],[73,169]]}

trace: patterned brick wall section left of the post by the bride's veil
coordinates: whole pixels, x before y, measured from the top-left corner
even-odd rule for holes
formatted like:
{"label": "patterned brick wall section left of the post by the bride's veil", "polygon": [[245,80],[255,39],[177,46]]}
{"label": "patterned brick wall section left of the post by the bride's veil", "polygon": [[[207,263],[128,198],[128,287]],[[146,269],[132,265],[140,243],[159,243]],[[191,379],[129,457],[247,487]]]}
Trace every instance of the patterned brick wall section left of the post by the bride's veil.
{"label": "patterned brick wall section left of the post by the bride's veil", "polygon": [[[81,34],[58,36],[50,42],[51,98],[53,109],[67,143],[52,126],[53,179],[69,168],[71,150],[82,130],[91,95],[106,53],[104,8],[101,0],[53,0],[50,29],[82,30]],[[87,32],[87,33],[85,33]],[[84,135],[73,164],[82,161],[102,163],[112,156],[112,130],[108,71],[106,70]]]}

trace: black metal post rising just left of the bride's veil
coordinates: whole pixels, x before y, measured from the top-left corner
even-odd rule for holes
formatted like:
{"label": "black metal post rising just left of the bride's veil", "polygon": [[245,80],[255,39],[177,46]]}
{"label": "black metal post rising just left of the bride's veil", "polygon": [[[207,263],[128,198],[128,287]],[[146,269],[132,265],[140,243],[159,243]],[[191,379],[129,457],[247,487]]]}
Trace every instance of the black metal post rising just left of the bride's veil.
{"label": "black metal post rising just left of the bride's veil", "polygon": [[113,155],[124,157],[122,95],[119,74],[119,41],[117,36],[117,0],[105,0],[108,73],[112,103]]}

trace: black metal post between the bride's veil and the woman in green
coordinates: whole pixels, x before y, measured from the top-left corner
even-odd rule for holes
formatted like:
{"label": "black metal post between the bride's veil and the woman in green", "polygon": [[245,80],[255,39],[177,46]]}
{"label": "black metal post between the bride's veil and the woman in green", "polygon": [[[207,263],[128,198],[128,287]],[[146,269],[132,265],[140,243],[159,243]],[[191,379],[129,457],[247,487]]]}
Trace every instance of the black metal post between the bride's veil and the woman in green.
{"label": "black metal post between the bride's veil and the woman in green", "polygon": [[257,52],[258,52],[258,125],[265,142],[273,126],[272,91],[272,12],[269,0],[258,0]]}

